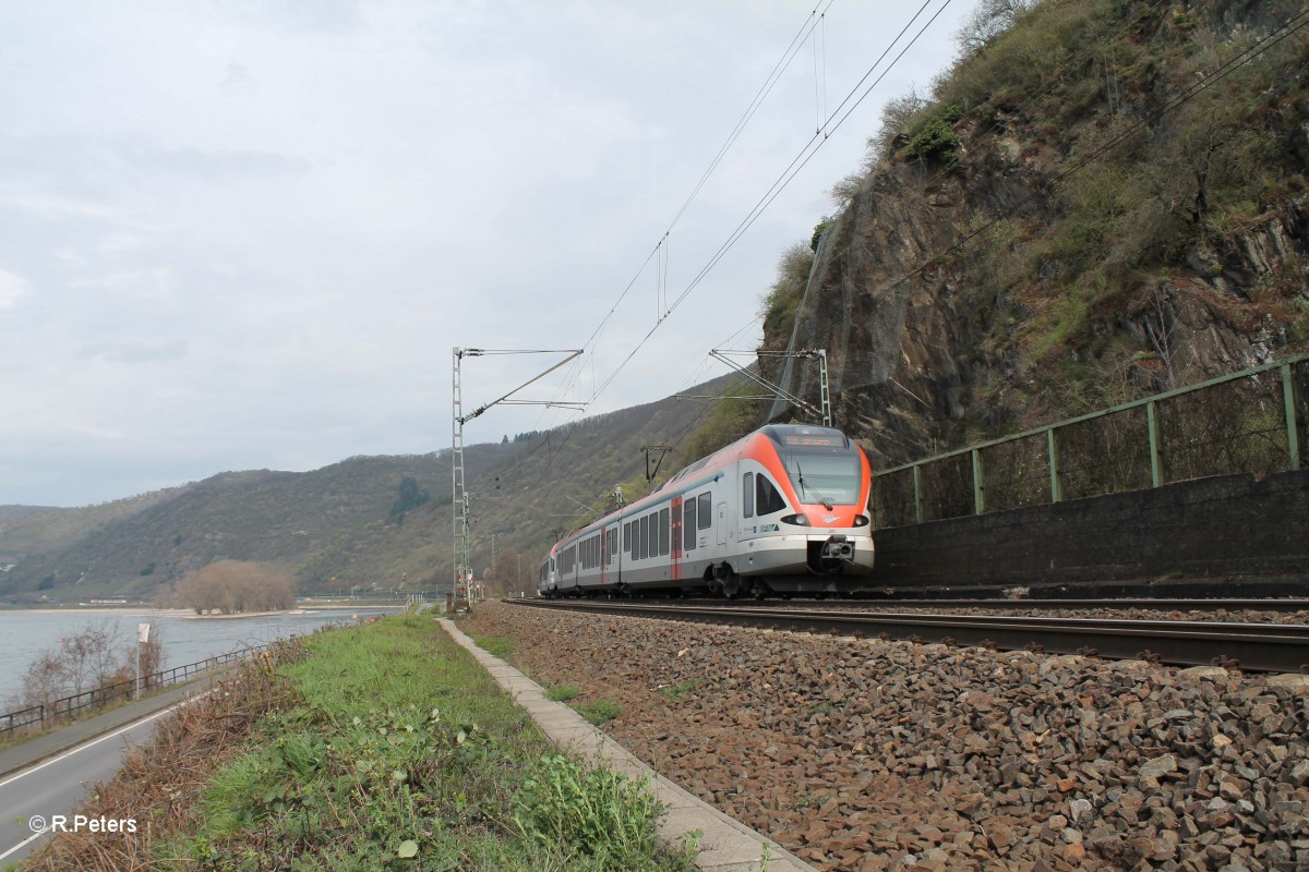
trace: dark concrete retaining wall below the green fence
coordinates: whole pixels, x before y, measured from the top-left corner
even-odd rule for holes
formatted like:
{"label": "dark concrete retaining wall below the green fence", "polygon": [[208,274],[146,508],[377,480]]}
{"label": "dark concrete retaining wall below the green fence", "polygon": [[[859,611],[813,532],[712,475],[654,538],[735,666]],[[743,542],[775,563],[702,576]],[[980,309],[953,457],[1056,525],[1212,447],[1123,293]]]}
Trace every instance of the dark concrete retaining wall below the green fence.
{"label": "dark concrete retaining wall below the green fence", "polygon": [[[1309,595],[1309,471],[1182,481],[874,533],[878,587]],[[939,590],[949,587],[949,591]]]}

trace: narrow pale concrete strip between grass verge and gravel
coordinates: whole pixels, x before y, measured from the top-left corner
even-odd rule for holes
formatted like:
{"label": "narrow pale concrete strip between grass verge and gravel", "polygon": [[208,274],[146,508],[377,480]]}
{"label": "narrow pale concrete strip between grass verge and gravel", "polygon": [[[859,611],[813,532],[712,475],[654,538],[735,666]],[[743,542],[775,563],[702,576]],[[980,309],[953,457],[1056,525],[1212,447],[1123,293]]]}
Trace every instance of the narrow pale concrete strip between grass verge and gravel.
{"label": "narrow pale concrete strip between grass verge and gravel", "polygon": [[679,846],[683,837],[699,830],[702,835],[695,864],[707,872],[762,872],[763,869],[767,872],[813,872],[814,867],[768,837],[700,801],[696,796],[656,773],[568,706],[547,699],[539,684],[504,660],[479,648],[473,639],[454,626],[453,621],[440,618],[439,622],[450,634],[450,638],[463,646],[513,697],[514,702],[531,715],[531,719],[559,748],[586,760],[600,761],[630,778],[649,778],[651,792],[668,805],[668,816],[660,828],[660,841],[664,845]]}

